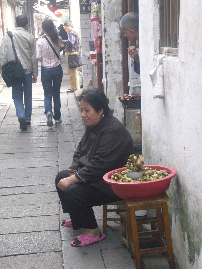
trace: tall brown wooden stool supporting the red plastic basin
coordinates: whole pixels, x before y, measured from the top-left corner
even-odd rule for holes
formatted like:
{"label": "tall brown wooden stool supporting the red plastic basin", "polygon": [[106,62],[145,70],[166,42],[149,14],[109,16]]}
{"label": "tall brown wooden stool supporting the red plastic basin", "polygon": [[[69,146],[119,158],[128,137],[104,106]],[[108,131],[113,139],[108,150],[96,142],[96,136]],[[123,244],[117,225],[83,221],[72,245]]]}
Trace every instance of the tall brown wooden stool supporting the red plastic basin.
{"label": "tall brown wooden stool supporting the red plastic basin", "polygon": [[[170,269],[175,269],[167,204],[169,201],[166,193],[147,200],[125,200],[128,242],[131,257],[135,258],[136,269],[141,269],[140,255],[162,252],[167,252]],[[157,229],[138,232],[135,211],[153,208],[156,209]],[[148,236],[158,239],[159,246],[140,248],[140,242],[145,242]]]}

